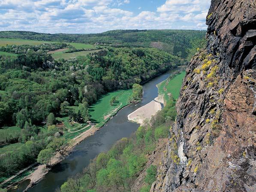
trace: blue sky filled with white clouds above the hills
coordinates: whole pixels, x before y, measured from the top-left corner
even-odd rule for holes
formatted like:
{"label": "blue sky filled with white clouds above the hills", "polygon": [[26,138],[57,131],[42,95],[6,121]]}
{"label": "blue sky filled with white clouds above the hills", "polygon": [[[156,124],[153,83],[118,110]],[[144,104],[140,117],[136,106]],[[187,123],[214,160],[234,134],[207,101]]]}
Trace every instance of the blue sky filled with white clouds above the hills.
{"label": "blue sky filled with white clouds above the hills", "polygon": [[0,31],[205,30],[211,0],[0,0]]}

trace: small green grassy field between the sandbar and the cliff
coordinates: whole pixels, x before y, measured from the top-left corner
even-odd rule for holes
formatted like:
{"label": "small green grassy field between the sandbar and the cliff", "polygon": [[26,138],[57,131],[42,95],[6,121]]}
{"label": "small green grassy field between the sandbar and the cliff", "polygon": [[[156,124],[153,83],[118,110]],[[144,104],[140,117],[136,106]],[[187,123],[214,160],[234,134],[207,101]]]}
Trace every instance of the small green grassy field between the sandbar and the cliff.
{"label": "small green grassy field between the sandbar and the cliff", "polygon": [[186,75],[186,72],[183,71],[180,74],[176,75],[172,79],[166,79],[165,81],[161,82],[160,84],[157,84],[158,87],[158,93],[160,95],[164,95],[165,101],[169,99],[168,93],[172,94],[172,97],[174,99],[178,99],[180,95],[181,85],[182,81]]}

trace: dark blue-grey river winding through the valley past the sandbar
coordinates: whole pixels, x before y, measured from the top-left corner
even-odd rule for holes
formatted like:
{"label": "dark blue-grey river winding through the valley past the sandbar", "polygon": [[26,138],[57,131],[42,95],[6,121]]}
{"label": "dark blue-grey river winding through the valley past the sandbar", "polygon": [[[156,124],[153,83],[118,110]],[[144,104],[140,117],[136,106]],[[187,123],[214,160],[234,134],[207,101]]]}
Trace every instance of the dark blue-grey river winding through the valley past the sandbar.
{"label": "dark blue-grey river winding through the valley past the sandbar", "polygon": [[[138,105],[130,105],[121,109],[99,131],[78,144],[66,159],[55,165],[45,175],[45,178],[33,188],[28,189],[28,192],[54,192],[68,177],[81,173],[90,163],[90,159],[94,159],[103,151],[108,151],[121,138],[130,137],[138,129],[139,124],[129,122],[127,119],[128,114],[154,100],[158,96],[156,85],[166,80],[169,75],[177,70],[180,69],[170,69],[163,75],[159,75],[144,84],[143,99]],[[9,190],[8,192],[22,192],[28,184],[28,181],[24,181],[19,185],[18,189]]]}

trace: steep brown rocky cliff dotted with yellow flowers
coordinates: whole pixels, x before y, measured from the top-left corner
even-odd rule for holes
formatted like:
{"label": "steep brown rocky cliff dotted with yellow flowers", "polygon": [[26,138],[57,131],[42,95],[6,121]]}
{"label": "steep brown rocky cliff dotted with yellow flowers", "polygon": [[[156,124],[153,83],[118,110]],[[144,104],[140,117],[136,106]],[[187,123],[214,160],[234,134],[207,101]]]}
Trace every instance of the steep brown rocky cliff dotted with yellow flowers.
{"label": "steep brown rocky cliff dotted with yellow flowers", "polygon": [[256,191],[256,1],[212,0],[151,192]]}

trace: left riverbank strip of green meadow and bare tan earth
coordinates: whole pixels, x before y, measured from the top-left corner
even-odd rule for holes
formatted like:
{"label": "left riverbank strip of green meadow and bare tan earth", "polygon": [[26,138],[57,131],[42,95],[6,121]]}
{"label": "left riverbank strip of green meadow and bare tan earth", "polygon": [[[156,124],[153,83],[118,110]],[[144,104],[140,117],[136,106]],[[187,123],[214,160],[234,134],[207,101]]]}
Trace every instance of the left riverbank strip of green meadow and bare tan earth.
{"label": "left riverbank strip of green meadow and bare tan earth", "polygon": [[[102,126],[104,126],[114,115],[117,114],[118,111],[120,111],[122,108],[126,107],[127,105],[130,105],[129,96],[132,94],[132,90],[117,90],[115,92],[107,93],[105,96],[99,99],[98,102],[96,102],[94,105],[90,106],[89,111],[91,118],[93,121],[96,122],[93,124],[93,126],[88,129],[88,126],[81,127],[81,129],[78,129],[75,132],[71,132],[68,128],[68,131],[65,134],[68,134],[67,138],[71,138],[73,140],[72,144],[66,149],[66,154],[61,156],[59,153],[56,153],[54,157],[51,160],[51,165],[54,166],[57,163],[63,161],[69,154],[72,152],[73,148],[81,143],[85,138],[88,138],[89,136],[93,135],[96,131],[98,131]],[[117,102],[115,105],[109,105],[109,100],[111,97],[116,96]],[[74,110],[78,110],[78,107],[74,106]],[[104,110],[102,110],[104,109]],[[96,112],[98,111],[98,112]],[[60,119],[63,120],[64,119]],[[66,123],[69,123],[68,120],[66,120]],[[63,123],[65,125],[65,123]],[[79,124],[80,126],[80,124]],[[88,129],[84,132],[81,132],[83,129]],[[74,134],[75,133],[75,134]],[[81,134],[78,134],[81,133]],[[77,135],[77,136],[76,136]],[[26,168],[27,169],[27,168]],[[25,169],[24,169],[25,170]],[[23,182],[24,180],[30,180],[30,184],[28,188],[31,186],[34,186],[36,183],[42,180],[42,178],[47,174],[50,169],[46,169],[45,165],[38,165],[34,167],[32,170],[34,170],[31,174],[28,176],[22,178],[21,180],[18,180],[17,182],[9,182],[13,180],[13,177],[10,177],[7,182],[5,183],[11,183],[6,188],[12,189],[13,186],[16,186],[18,183]],[[23,171],[24,172],[24,171]],[[20,174],[20,173],[19,173]],[[27,188],[27,189],[28,189]]]}

